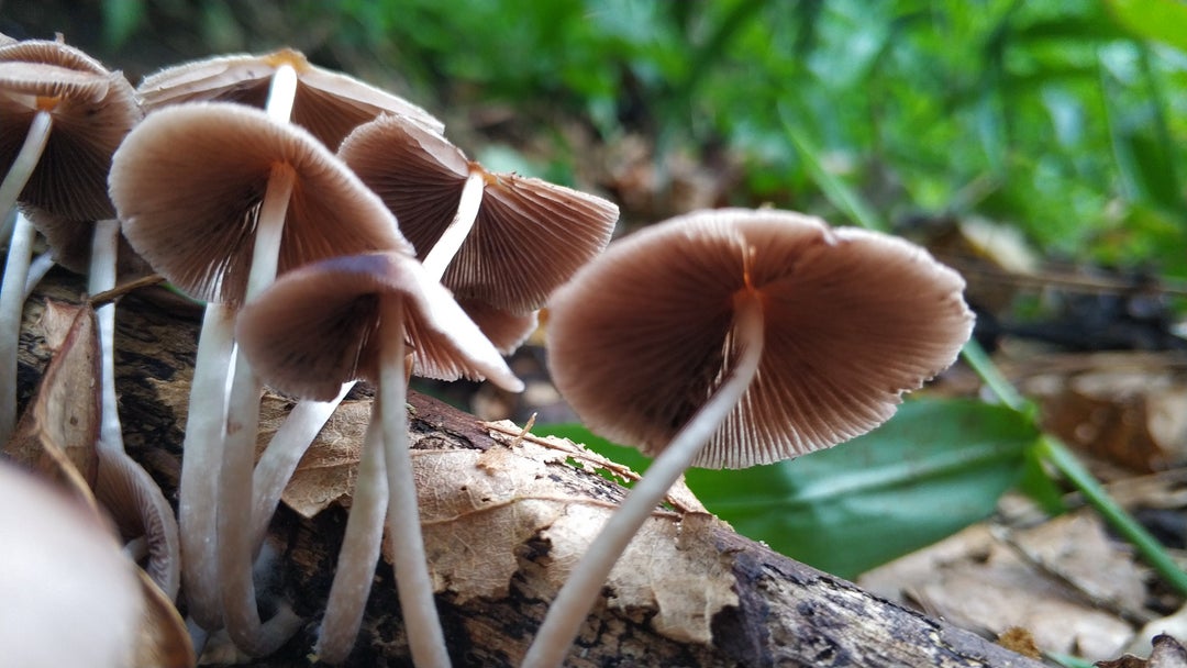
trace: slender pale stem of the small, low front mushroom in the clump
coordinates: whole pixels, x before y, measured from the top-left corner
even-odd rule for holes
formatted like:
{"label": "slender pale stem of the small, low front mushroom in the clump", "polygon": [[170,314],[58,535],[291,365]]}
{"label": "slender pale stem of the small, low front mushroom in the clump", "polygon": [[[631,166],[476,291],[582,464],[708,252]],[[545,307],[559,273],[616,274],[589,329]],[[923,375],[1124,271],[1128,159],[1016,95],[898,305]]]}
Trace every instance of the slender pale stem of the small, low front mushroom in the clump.
{"label": "slender pale stem of the small, low front mushroom in the clump", "polygon": [[407,386],[404,377],[404,305],[399,299],[380,303],[379,396],[383,452],[387,459],[388,532],[392,536],[395,586],[404,626],[418,668],[447,668],[449,651],[442,631],[433,583],[429,574],[415,478],[408,446]]}

